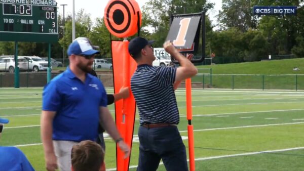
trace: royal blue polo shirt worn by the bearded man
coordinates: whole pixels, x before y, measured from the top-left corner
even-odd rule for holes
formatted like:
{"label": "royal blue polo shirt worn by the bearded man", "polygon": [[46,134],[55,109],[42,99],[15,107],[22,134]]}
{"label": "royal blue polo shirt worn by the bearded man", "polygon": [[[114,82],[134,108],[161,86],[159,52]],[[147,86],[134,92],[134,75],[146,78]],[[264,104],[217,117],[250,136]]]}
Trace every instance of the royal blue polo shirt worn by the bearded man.
{"label": "royal blue polo shirt worn by the bearded man", "polygon": [[86,80],[82,82],[69,67],[52,79],[43,91],[42,110],[56,112],[53,140],[95,141],[101,106],[107,106],[101,81],[86,74]]}

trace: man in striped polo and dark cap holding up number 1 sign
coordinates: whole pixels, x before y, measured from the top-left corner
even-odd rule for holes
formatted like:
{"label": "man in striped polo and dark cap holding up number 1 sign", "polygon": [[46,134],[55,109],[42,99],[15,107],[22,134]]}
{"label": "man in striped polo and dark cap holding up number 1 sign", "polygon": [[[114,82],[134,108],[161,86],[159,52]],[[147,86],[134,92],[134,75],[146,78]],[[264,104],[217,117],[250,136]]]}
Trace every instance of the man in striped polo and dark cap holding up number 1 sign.
{"label": "man in striped polo and dark cap holding up number 1 sign", "polygon": [[[167,170],[188,170],[186,150],[177,129],[179,113],[174,87],[197,74],[197,68],[170,41],[164,49],[180,67],[154,67],[153,40],[135,37],[129,53],[137,62],[131,90],[139,110],[139,160],[137,170],[157,170],[162,159]],[[191,56],[192,57],[192,56]]]}

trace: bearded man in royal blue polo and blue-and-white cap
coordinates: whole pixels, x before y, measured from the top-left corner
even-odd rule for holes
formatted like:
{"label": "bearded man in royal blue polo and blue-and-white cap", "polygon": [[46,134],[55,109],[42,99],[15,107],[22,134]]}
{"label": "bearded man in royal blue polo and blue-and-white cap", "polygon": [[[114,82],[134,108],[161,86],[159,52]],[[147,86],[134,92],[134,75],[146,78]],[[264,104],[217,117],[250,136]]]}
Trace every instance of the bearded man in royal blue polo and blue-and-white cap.
{"label": "bearded man in royal blue polo and blue-and-white cap", "polygon": [[108,110],[105,89],[92,69],[94,50],[89,40],[75,39],[67,50],[70,65],[43,92],[41,137],[47,170],[70,170],[74,144],[96,141],[99,121],[118,146],[130,154]]}

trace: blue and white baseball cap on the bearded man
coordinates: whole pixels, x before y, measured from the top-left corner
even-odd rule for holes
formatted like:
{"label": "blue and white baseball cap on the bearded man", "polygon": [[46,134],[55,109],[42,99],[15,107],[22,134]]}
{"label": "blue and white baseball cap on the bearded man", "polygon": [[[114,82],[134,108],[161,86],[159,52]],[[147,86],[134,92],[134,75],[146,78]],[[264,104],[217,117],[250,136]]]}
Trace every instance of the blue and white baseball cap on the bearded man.
{"label": "blue and white baseball cap on the bearded man", "polygon": [[95,55],[100,54],[100,51],[94,49],[88,38],[75,39],[67,49],[67,55]]}

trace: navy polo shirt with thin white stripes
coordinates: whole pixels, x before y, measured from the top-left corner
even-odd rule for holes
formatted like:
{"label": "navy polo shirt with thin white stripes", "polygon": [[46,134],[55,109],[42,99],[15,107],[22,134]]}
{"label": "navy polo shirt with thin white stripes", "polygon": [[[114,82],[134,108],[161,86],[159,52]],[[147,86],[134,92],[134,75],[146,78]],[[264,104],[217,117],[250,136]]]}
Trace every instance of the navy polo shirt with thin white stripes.
{"label": "navy polo shirt with thin white stripes", "polygon": [[131,90],[139,110],[139,122],[179,122],[173,89],[175,67],[139,65],[131,78]]}

